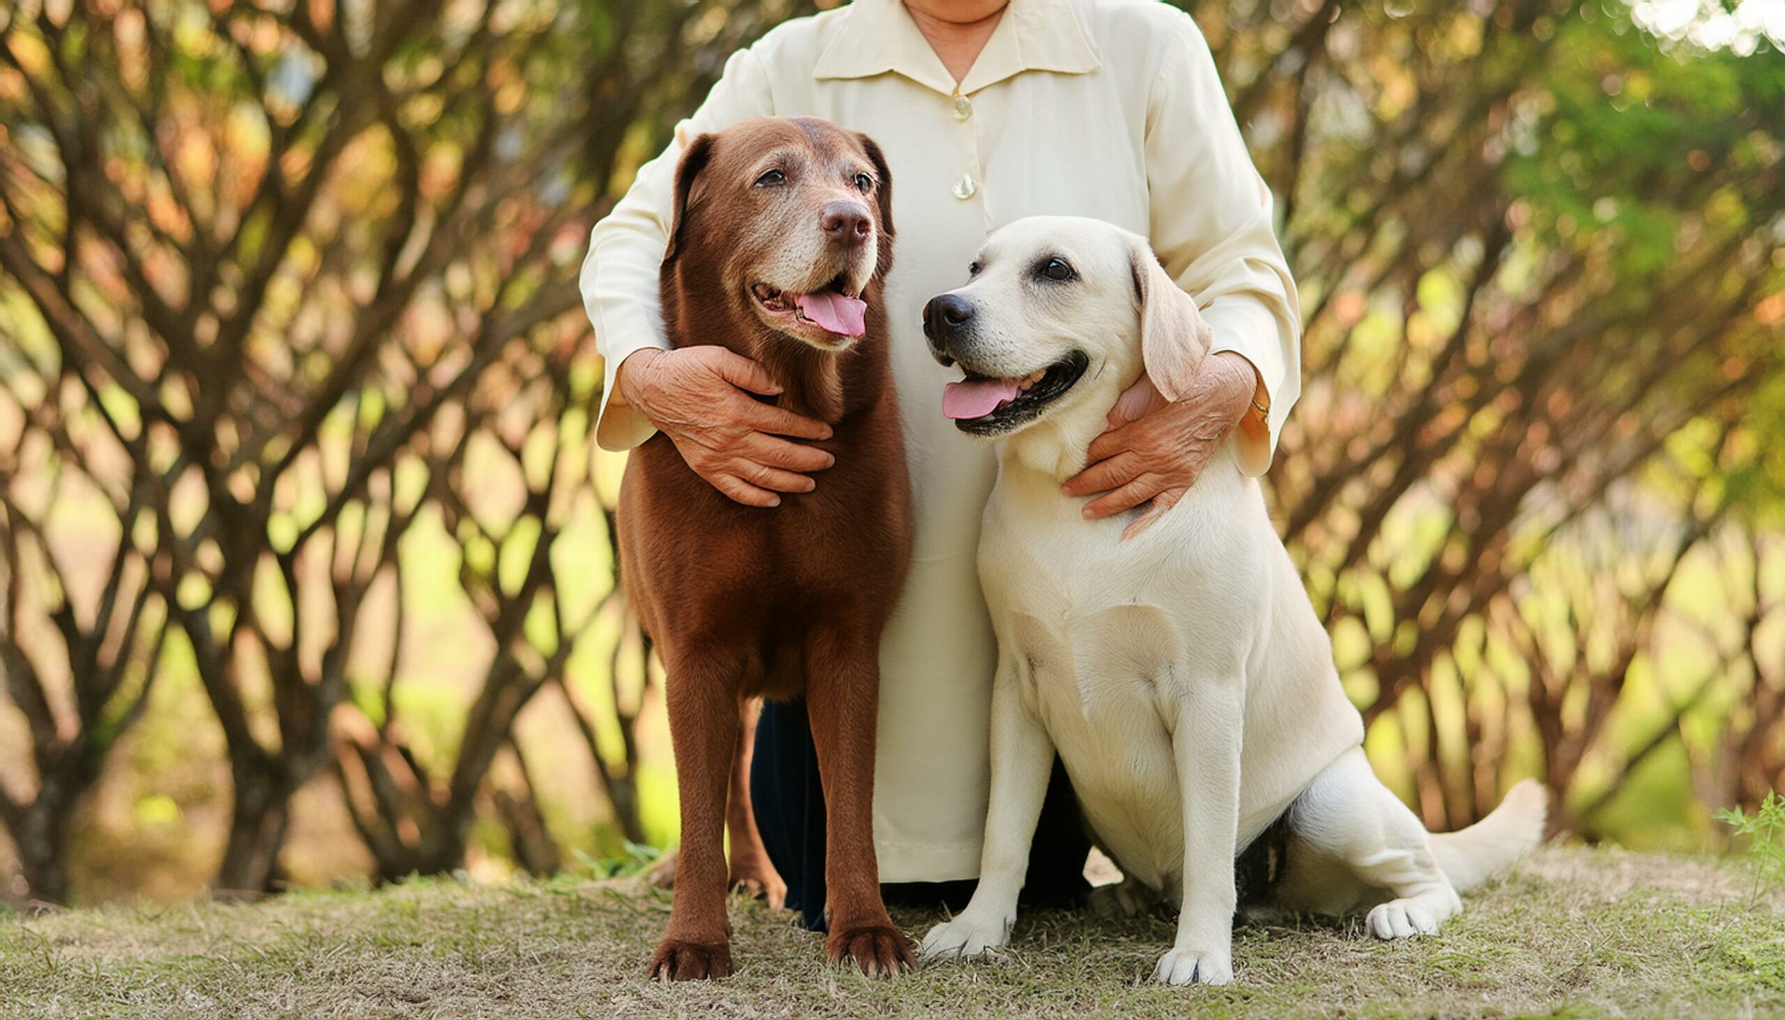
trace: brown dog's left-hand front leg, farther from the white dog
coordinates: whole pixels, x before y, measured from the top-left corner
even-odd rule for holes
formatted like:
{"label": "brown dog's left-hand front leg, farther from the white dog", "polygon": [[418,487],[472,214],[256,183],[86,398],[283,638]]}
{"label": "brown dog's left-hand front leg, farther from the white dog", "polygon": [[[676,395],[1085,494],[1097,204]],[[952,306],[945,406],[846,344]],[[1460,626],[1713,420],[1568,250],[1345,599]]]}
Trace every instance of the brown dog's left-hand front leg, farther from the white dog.
{"label": "brown dog's left-hand front leg, farther from the white dog", "polygon": [[726,656],[664,657],[669,741],[682,793],[682,849],[669,931],[652,957],[652,977],[689,981],[732,972],[725,916],[725,793],[737,748],[737,682]]}

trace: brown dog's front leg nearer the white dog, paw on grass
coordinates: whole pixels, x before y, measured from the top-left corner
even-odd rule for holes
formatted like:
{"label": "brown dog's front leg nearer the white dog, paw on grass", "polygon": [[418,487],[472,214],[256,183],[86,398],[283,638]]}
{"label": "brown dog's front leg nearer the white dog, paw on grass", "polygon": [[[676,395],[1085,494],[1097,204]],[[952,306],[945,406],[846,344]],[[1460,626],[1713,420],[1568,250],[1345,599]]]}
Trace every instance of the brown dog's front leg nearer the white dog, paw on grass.
{"label": "brown dog's front leg nearer the white dog, paw on grass", "polygon": [[805,700],[825,782],[825,950],[832,963],[850,956],[869,977],[892,977],[910,970],[912,952],[880,900],[873,804],[880,661],[862,632],[876,631],[814,634],[807,654]]}

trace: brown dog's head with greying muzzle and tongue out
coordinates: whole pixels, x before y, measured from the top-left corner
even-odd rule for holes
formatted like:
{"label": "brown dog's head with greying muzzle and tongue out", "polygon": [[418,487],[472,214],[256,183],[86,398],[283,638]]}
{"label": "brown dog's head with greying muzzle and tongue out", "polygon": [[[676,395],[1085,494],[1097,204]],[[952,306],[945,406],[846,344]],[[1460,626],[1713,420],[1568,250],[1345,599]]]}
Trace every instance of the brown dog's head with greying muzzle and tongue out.
{"label": "brown dog's head with greying muzzle and tongue out", "polygon": [[866,332],[868,284],[892,264],[892,175],[866,134],[757,118],[689,141],[675,173],[666,279],[719,288],[819,350]]}

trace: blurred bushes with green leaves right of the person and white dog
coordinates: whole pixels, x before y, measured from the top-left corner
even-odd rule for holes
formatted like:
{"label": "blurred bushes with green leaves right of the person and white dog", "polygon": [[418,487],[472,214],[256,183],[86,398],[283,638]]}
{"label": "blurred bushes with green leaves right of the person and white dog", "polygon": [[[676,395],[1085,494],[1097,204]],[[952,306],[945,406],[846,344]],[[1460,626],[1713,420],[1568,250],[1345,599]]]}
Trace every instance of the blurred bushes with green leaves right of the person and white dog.
{"label": "blurred bushes with green leaves right of the person and white dog", "polygon": [[1690,845],[1692,802],[1758,802],[1785,768],[1776,48],[1617,2],[1196,14],[1287,207],[1307,393],[1276,507],[1378,768],[1433,827],[1519,773],[1587,838]]}

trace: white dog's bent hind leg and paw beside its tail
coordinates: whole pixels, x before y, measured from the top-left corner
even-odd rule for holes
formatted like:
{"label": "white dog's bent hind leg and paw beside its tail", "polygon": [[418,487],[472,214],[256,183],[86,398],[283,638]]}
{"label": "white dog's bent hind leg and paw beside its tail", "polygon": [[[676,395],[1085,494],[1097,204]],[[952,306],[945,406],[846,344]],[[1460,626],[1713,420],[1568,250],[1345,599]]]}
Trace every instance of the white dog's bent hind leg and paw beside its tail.
{"label": "white dog's bent hind leg and paw beside its tail", "polygon": [[1376,779],[1360,747],[1326,766],[1296,800],[1294,838],[1394,897],[1364,922],[1376,938],[1432,934],[1462,913],[1426,827]]}

